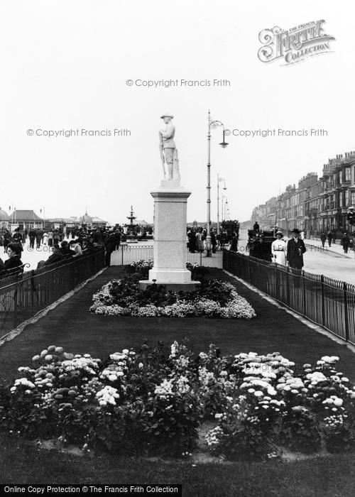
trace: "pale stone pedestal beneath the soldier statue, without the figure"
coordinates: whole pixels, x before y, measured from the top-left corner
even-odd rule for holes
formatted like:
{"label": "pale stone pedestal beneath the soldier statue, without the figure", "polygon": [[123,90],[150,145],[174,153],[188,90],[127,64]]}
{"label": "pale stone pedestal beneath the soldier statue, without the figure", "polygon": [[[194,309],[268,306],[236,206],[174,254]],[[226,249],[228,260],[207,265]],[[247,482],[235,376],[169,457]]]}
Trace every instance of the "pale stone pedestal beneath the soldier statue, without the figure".
{"label": "pale stone pedestal beneath the soldier statue, without the figure", "polygon": [[195,290],[200,283],[191,280],[186,269],[186,212],[187,198],[191,192],[180,187],[179,180],[163,180],[160,187],[151,192],[154,198],[154,266],[149,279],[141,280],[146,288],[156,280],[168,290]]}

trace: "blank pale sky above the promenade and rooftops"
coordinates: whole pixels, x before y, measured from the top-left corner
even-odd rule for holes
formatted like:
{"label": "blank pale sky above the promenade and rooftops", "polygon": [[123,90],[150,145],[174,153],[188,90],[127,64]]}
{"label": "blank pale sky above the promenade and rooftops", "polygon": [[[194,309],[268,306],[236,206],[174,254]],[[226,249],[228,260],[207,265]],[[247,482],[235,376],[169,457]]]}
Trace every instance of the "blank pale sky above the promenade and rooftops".
{"label": "blank pale sky above the promenade and rooftops", "polygon": [[[152,222],[150,192],[162,179],[160,116],[169,112],[181,182],[191,192],[187,219],[203,221],[211,109],[231,130],[223,149],[222,129],[212,129],[212,220],[217,174],[231,219],[249,219],[253,207],[303,175],[321,175],[328,158],[355,150],[354,13],[350,0],[2,1],[0,207],[44,208],[45,217],[81,216],[87,207],[115,223],[133,204],[138,219]],[[264,29],[321,19],[335,38],[328,53],[295,64],[259,60]],[[148,81],[156,87],[143,86]],[[309,133],[236,136],[259,129]],[[50,131],[58,136],[44,136]]]}

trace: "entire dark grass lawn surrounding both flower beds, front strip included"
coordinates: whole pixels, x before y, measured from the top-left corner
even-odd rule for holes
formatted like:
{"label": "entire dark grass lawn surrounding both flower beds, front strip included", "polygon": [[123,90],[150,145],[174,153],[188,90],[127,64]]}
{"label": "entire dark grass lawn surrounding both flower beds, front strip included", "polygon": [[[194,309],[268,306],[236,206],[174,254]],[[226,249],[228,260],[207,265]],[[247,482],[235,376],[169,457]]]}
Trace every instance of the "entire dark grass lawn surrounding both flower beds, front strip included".
{"label": "entire dark grass lawn surrounding both flower beds, front strip included", "polygon": [[[0,347],[0,381],[9,383],[18,366],[47,346],[63,346],[74,354],[104,359],[114,351],[138,347],[143,339],[170,345],[190,339],[196,353],[214,343],[222,354],[279,351],[296,367],[323,355],[337,355],[339,369],[355,383],[354,354],[345,345],[313,331],[282,309],[229,278],[220,270],[210,275],[231,281],[256,310],[253,320],[207,318],[104,317],[89,313],[92,294],[121,268],[109,268],[96,280],[55,308],[22,334]],[[186,496],[350,496],[354,494],[354,454],[280,463],[197,464],[191,461],[117,459],[105,454],[75,457],[38,450],[24,440],[0,438],[0,483],[140,484],[182,483]]]}

